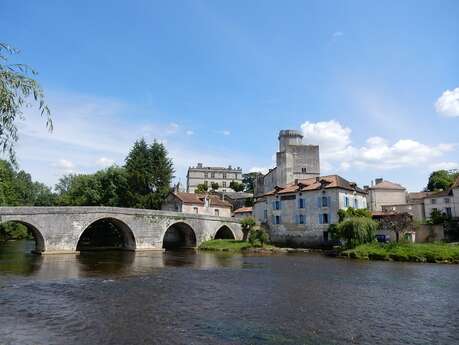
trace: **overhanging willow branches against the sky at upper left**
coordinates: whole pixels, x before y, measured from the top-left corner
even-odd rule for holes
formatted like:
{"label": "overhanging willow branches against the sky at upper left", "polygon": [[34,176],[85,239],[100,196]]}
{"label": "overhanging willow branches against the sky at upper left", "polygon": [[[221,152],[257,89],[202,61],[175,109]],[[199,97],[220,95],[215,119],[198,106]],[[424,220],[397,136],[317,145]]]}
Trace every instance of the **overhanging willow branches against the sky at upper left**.
{"label": "overhanging willow branches against the sky at upper left", "polygon": [[31,76],[37,73],[24,64],[8,63],[8,58],[18,50],[0,43],[0,150],[16,165],[15,144],[18,141],[17,121],[22,120],[22,109],[30,105],[30,100],[38,103],[46,127],[52,131],[51,113],[45,104],[40,84]]}

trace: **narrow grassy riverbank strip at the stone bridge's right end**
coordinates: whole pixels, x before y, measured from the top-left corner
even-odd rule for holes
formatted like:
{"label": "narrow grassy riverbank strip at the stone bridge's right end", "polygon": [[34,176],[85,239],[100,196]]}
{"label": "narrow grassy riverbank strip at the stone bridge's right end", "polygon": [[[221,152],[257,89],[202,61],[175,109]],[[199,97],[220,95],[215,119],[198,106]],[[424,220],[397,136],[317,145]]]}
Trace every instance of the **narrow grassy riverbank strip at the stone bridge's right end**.
{"label": "narrow grassy riverbank strip at the stone bridge's right end", "polygon": [[248,241],[237,240],[210,240],[202,243],[199,250],[204,251],[221,251],[221,252],[245,252],[245,253],[308,253],[310,249],[304,248],[279,248],[271,244],[252,245]]}

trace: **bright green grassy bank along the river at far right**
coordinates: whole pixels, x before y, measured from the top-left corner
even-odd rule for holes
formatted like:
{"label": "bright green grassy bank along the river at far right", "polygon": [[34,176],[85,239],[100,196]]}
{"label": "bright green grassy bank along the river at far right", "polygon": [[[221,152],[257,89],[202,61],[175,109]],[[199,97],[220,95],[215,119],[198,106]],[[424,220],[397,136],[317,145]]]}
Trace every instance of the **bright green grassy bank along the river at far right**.
{"label": "bright green grassy bank along the river at far right", "polygon": [[459,245],[446,243],[363,244],[342,254],[366,260],[459,263]]}

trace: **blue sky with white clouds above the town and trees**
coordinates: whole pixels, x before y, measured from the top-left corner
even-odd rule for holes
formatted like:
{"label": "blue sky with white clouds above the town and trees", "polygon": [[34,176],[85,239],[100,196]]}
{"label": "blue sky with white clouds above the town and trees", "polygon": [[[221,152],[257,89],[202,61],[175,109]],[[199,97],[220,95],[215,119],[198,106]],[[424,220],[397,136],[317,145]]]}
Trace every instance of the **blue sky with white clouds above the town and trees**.
{"label": "blue sky with white clouds above the town and trees", "polygon": [[459,1],[0,2],[51,109],[18,123],[21,169],[53,186],[122,165],[135,140],[188,166],[275,166],[281,129],[322,175],[410,191],[459,168]]}

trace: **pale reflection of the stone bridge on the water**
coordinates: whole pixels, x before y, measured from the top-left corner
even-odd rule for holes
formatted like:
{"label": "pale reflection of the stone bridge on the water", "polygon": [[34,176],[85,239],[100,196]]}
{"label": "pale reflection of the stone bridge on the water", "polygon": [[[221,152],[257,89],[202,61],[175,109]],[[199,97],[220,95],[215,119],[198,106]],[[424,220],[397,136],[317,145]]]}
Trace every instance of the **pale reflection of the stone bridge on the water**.
{"label": "pale reflection of the stone bridge on the water", "polygon": [[34,255],[33,241],[12,241],[0,246],[0,275],[33,276],[41,279],[96,276],[133,276],[164,267],[195,269],[241,268],[243,257],[228,253],[178,251],[85,251],[76,255]]}

